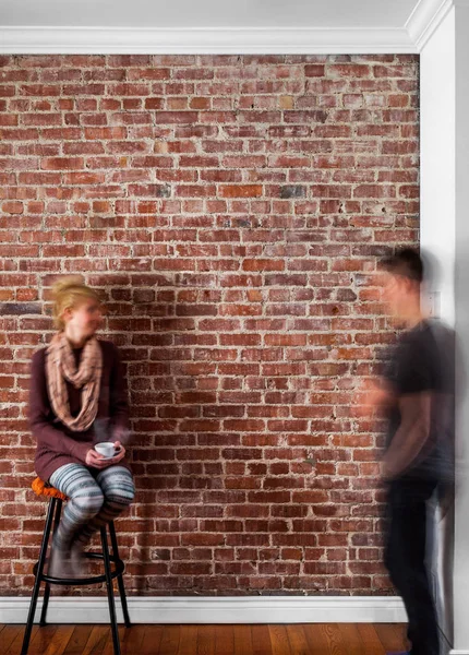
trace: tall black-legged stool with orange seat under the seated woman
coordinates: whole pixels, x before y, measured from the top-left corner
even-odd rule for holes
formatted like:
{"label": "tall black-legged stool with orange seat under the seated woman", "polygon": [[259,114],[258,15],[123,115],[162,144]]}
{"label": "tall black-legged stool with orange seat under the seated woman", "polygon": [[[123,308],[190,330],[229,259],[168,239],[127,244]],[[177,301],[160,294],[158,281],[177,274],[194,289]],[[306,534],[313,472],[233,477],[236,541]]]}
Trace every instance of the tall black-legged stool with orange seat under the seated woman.
{"label": "tall black-legged stool with orange seat under the seated woman", "polygon": [[[118,544],[117,544],[113,521],[110,521],[108,523],[109,534],[110,534],[111,545],[112,545],[112,555],[109,555],[109,546],[108,546],[108,537],[107,537],[106,526],[100,528],[103,551],[85,553],[85,557],[88,559],[104,560],[104,565],[105,565],[104,574],[93,575],[89,577],[53,577],[52,575],[46,575],[44,573],[44,567],[46,563],[46,555],[47,555],[47,547],[49,544],[50,529],[52,526],[52,522],[53,522],[53,532],[56,532],[56,529],[59,525],[60,514],[62,512],[62,503],[63,503],[63,501],[67,501],[67,496],[61,493],[58,489],[55,489],[53,487],[46,485],[40,478],[36,478],[34,480],[34,483],[32,484],[32,489],[37,496],[49,497],[50,500],[49,500],[49,509],[47,511],[46,524],[44,527],[43,543],[40,545],[39,559],[33,568],[33,573],[34,573],[36,580],[34,583],[33,596],[31,598],[29,614],[27,616],[27,623],[26,623],[26,630],[24,633],[21,655],[26,655],[27,650],[29,647],[31,632],[33,630],[34,617],[36,614],[37,598],[39,596],[39,587],[40,587],[40,583],[43,581],[46,583],[46,588],[44,592],[43,610],[40,612],[40,621],[39,621],[39,626],[41,626],[41,627],[46,624],[47,606],[49,604],[50,585],[51,584],[61,584],[61,585],[65,586],[65,585],[99,584],[99,583],[106,582],[107,592],[108,592],[109,617],[110,617],[111,631],[112,631],[113,651],[115,651],[115,655],[120,655],[120,652],[121,652],[120,640],[119,640],[118,624],[117,624],[117,618],[116,618],[116,604],[115,604],[115,596],[113,596],[113,588],[112,588],[112,580],[115,577],[117,577],[117,581],[118,581],[119,594],[120,594],[120,599],[121,599],[121,604],[122,604],[122,612],[123,612],[123,620],[124,620],[125,627],[130,628],[131,622],[130,622],[129,609],[128,609],[128,605],[127,605],[125,588],[124,588],[123,580],[122,580],[123,572],[125,571],[125,565],[124,565],[123,561],[119,558],[119,550],[118,550]],[[111,568],[111,562],[113,563],[113,568]]]}

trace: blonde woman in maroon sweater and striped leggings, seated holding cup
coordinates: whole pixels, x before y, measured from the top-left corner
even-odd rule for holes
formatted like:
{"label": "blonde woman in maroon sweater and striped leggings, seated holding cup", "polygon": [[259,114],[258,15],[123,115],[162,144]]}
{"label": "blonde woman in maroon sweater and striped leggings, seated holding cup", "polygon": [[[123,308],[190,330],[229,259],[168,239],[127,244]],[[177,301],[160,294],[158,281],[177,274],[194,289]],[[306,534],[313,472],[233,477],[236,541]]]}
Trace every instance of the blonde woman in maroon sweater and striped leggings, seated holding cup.
{"label": "blonde woman in maroon sweater and striped leggings, seated holding cup", "polygon": [[[134,484],[122,444],[129,409],[117,347],[97,340],[103,311],[80,276],[53,287],[58,332],[33,356],[29,422],[37,475],[69,497],[53,537],[50,571],[76,575],[93,534],[133,500]],[[98,441],[113,441],[103,457]]]}

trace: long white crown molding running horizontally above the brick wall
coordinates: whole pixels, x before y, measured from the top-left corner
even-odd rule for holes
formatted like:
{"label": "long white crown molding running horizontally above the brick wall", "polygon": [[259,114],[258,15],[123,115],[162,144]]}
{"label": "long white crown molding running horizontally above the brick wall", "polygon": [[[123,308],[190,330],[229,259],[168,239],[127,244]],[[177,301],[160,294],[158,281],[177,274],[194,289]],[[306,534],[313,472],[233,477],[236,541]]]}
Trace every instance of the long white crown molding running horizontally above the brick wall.
{"label": "long white crown molding running horizontally above the brick wall", "polygon": [[0,27],[0,53],[352,55],[416,52],[407,29]]}

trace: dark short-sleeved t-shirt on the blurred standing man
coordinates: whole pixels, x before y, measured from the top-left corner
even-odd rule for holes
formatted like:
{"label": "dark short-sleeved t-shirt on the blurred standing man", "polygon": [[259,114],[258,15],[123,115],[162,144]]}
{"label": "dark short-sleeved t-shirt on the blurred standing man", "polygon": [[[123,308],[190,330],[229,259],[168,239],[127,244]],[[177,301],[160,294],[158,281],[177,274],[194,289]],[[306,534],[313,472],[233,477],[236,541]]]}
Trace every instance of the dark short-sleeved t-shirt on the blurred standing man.
{"label": "dark short-sleeved t-shirt on the blurred standing man", "polygon": [[[397,397],[432,394],[429,438],[401,476],[443,481],[453,469],[454,333],[441,323],[422,321],[401,334],[387,359],[385,378]],[[401,420],[397,404],[388,420],[387,448]]]}

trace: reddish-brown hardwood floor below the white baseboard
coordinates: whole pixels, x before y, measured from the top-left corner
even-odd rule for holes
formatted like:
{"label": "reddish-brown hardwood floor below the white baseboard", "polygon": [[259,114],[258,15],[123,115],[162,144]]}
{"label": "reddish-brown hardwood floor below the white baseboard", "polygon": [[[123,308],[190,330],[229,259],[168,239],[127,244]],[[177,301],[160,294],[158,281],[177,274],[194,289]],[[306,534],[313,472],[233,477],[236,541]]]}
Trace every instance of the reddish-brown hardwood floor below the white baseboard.
{"label": "reddish-brown hardwood floor below the white baseboard", "polygon": [[[0,655],[20,655],[24,626],[0,626]],[[384,655],[405,647],[402,626],[133,626],[122,655]],[[28,655],[113,655],[108,626],[35,626]]]}

